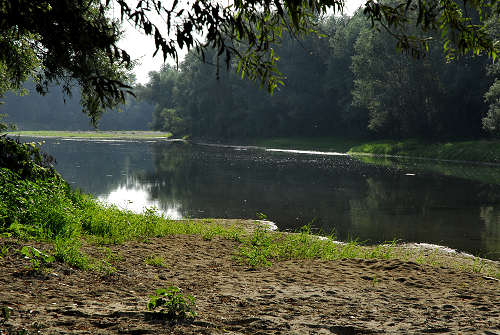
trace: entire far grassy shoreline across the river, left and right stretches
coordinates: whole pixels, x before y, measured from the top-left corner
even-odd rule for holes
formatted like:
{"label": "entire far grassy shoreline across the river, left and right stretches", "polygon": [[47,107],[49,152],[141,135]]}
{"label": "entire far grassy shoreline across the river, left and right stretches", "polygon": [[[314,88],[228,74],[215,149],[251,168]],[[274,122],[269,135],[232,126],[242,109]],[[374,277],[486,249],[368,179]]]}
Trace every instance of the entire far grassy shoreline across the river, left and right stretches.
{"label": "entire far grassy shoreline across the river, left and right stretches", "polygon": [[[10,136],[39,138],[74,139],[172,139],[172,133],[148,130],[115,131],[61,131],[61,130],[23,130],[7,132]],[[298,138],[282,137],[242,140],[249,148],[308,150],[337,152],[357,157],[396,157],[418,158],[451,162],[500,164],[500,140],[469,140],[429,142],[420,139],[404,140],[356,140],[334,137]],[[196,143],[196,142],[194,142]],[[212,145],[209,143],[199,143]],[[215,145],[215,144],[214,144]],[[225,144],[221,144],[225,146]],[[239,147],[240,145],[238,145]]]}

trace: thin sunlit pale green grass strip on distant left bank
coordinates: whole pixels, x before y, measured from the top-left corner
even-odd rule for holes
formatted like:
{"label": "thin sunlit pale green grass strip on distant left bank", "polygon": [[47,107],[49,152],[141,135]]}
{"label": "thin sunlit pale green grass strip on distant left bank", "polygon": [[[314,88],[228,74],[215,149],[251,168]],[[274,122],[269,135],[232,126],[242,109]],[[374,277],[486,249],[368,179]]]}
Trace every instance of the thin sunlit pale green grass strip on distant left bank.
{"label": "thin sunlit pale green grass strip on distant left bank", "polygon": [[104,138],[104,139],[151,139],[169,138],[171,133],[159,131],[64,131],[64,130],[23,130],[10,131],[11,136]]}

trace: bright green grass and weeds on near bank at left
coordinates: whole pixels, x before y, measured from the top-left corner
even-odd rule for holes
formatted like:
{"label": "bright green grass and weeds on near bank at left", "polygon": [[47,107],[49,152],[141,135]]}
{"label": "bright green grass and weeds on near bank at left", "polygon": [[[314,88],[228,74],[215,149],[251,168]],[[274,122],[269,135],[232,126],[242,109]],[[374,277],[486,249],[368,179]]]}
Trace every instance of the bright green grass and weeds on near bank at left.
{"label": "bright green grass and weeds on near bank at left", "polygon": [[102,246],[175,234],[241,240],[245,233],[235,226],[168,220],[154,209],[143,214],[120,210],[71,190],[58,176],[32,181],[0,168],[0,185],[0,233],[52,243],[56,259],[82,269],[102,265],[81,251],[84,244]]}

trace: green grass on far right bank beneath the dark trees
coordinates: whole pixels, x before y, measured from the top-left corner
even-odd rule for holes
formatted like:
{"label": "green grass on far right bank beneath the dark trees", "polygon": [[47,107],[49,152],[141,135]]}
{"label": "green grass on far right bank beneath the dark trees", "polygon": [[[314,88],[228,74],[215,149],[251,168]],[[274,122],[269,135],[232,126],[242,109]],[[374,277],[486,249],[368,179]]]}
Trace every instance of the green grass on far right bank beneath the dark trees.
{"label": "green grass on far right bank beneath the dark trees", "polygon": [[349,150],[349,153],[500,163],[500,141],[477,140],[428,143],[415,139],[386,140],[354,146]]}

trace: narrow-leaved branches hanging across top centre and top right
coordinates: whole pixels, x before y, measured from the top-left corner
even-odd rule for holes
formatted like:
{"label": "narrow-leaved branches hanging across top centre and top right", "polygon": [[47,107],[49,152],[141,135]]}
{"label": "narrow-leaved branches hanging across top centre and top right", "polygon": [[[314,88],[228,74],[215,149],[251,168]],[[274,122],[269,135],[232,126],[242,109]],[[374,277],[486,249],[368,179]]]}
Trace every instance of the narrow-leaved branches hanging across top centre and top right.
{"label": "narrow-leaved branches hanging across top centre and top right", "polygon": [[[314,19],[327,10],[342,11],[344,1],[236,1],[223,6],[208,0],[196,1],[190,5],[174,2],[166,6],[161,1],[139,1],[137,6],[117,0],[122,19],[133,21],[147,35],[155,39],[157,52],[161,49],[164,58],[178,59],[177,46],[194,48],[203,57],[206,47],[217,49],[219,56],[229,65],[233,56],[238,61],[237,69],[242,76],[260,79],[272,90],[279,83],[273,42],[281,37],[283,30],[292,35],[311,30]],[[486,52],[495,58],[498,46],[485,32],[484,21],[498,12],[494,0],[468,2],[464,10],[452,0],[440,4],[437,1],[412,0],[378,2],[367,1],[364,14],[372,25],[377,24],[392,33],[402,50],[417,56],[425,54],[429,31],[441,31],[448,57],[466,52]],[[145,14],[153,11],[165,18],[166,28],[151,22]],[[478,15],[480,22],[472,24],[472,16]],[[408,32],[414,25],[420,34]],[[197,33],[200,37],[197,37]]]}

